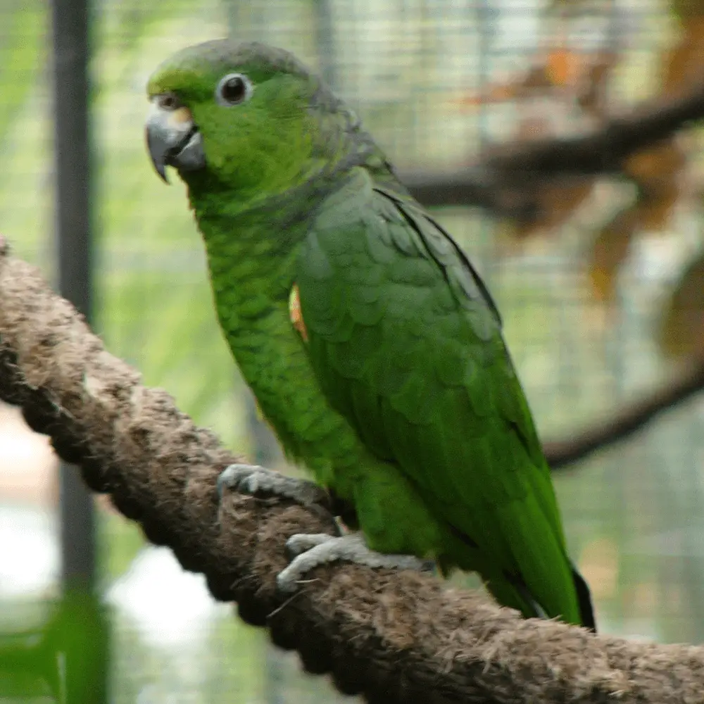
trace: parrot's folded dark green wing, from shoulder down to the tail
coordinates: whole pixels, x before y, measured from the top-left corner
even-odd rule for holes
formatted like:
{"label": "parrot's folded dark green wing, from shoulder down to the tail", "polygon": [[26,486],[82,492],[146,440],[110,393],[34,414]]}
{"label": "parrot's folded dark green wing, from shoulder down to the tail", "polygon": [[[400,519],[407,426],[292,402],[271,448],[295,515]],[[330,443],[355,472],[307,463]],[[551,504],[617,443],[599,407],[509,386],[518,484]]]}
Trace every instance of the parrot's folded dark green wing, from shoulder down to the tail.
{"label": "parrot's folded dark green wing, from shoulder down to the tail", "polygon": [[410,196],[360,169],[316,218],[297,284],[331,405],[498,579],[579,622],[532,416],[496,306],[459,246]]}

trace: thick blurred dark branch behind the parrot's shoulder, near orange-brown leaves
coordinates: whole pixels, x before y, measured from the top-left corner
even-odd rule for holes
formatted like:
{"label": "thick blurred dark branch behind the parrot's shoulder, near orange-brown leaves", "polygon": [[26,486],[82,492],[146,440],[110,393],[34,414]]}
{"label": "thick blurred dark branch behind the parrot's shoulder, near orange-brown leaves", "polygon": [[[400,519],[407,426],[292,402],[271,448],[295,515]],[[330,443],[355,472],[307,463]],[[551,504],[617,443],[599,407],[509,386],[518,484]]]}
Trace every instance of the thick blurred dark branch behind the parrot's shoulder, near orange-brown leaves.
{"label": "thick blurred dark branch behind the parrot's shoulder, near orange-brown leaves", "polygon": [[467,169],[451,175],[402,175],[425,206],[477,206],[520,220],[535,217],[536,192],[547,182],[615,173],[632,153],[704,118],[704,85],[670,98],[643,101],[598,130],[491,146]]}

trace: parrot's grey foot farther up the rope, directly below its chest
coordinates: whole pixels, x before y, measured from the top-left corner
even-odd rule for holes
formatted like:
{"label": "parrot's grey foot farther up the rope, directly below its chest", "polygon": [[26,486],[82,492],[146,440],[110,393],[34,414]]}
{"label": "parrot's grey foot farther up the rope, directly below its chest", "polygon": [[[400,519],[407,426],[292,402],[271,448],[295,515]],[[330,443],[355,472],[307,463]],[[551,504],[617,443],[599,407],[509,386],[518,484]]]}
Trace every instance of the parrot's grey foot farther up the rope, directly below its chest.
{"label": "parrot's grey foot farther up the rope, directly below its chest", "polygon": [[326,505],[329,496],[325,489],[306,482],[305,479],[287,477],[279,472],[257,465],[230,465],[218,477],[218,497],[222,499],[225,489],[240,491],[242,494],[273,494],[291,498],[303,506]]}

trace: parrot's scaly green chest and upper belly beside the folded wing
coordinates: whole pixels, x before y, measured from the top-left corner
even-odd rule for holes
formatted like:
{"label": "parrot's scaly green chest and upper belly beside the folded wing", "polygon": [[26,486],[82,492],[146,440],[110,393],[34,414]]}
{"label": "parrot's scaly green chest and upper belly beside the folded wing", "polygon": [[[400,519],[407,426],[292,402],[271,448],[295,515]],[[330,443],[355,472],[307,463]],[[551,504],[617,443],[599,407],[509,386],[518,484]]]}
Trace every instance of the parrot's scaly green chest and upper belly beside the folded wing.
{"label": "parrot's scaly green chest and upper belly beside the folded wing", "polygon": [[199,227],[220,326],[263,417],[287,456],[344,498],[348,491],[335,477],[366,455],[356,432],[329,405],[306,349],[295,285],[306,221],[285,228],[285,237],[299,243],[285,247],[283,225],[263,227],[251,215],[210,220],[201,213]]}

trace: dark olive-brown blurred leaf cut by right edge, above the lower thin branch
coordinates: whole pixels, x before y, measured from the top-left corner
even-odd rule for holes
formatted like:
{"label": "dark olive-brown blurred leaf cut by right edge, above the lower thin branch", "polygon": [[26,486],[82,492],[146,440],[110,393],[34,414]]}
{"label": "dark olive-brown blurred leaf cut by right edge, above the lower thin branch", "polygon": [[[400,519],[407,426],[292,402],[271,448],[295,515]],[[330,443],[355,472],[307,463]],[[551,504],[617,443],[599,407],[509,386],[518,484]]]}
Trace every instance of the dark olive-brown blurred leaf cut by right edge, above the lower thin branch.
{"label": "dark olive-brown blurred leaf cut by right edge, above the lower thin branch", "polygon": [[674,287],[658,331],[658,344],[668,357],[699,357],[704,351],[704,255],[694,260]]}

